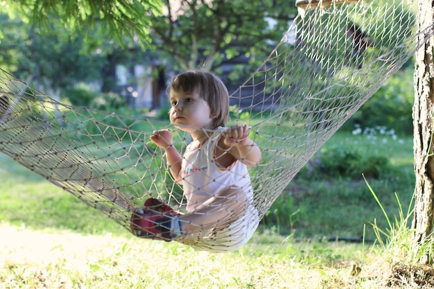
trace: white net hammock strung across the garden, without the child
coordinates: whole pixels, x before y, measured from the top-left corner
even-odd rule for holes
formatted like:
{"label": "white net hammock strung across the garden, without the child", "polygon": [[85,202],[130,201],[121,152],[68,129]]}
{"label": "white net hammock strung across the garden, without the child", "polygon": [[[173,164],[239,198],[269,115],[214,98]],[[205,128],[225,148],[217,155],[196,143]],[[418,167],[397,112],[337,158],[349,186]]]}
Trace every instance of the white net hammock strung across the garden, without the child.
{"label": "white net hammock strung across the garden, without the child", "polygon": [[[252,222],[259,222],[324,142],[433,35],[433,26],[416,29],[415,5],[389,0],[307,7],[232,94],[239,110],[231,123],[250,125],[250,137],[262,151],[261,163],[250,168],[259,215]],[[0,151],[129,231],[132,211],[150,197],[185,209],[164,150],[150,141],[162,128],[174,131],[173,144],[183,152],[189,134],[167,121],[64,105],[0,70]],[[177,241],[213,249],[197,236]]]}

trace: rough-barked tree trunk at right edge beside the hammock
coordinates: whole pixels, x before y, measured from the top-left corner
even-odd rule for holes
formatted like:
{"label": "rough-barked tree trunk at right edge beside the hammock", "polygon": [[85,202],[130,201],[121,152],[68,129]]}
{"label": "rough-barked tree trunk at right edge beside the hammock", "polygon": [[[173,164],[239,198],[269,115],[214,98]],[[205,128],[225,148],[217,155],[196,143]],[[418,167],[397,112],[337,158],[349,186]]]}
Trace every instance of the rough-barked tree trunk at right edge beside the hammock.
{"label": "rough-barked tree trunk at right edge beside the hammock", "polygon": [[[422,30],[433,23],[434,0],[419,0],[417,28]],[[419,38],[424,38],[420,35]],[[434,38],[416,52],[415,105],[413,107],[415,154],[415,229],[414,252],[422,253],[419,263],[433,263],[431,250],[421,251],[433,239],[434,225]]]}

